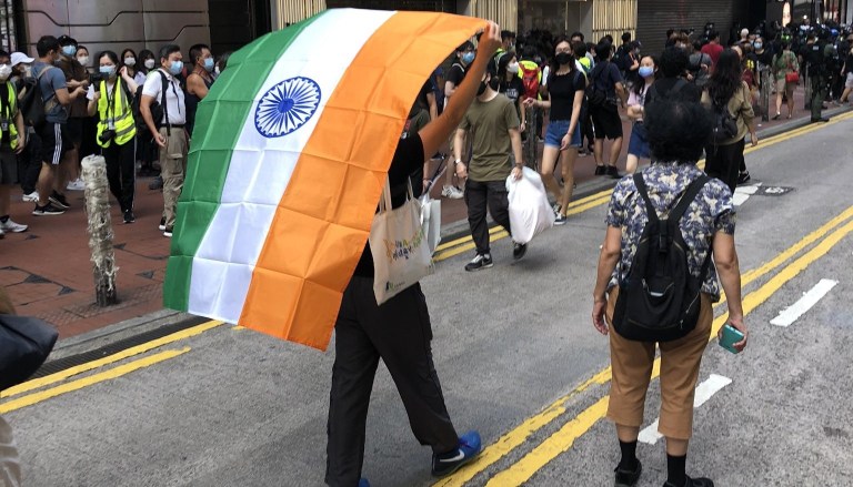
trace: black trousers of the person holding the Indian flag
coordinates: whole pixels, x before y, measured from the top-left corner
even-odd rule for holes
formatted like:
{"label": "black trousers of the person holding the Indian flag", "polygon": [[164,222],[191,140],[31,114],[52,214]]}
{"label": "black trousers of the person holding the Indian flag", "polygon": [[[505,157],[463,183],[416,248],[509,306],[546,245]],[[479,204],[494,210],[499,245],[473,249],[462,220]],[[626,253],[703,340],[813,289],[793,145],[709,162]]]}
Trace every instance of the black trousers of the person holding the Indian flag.
{"label": "black trousers of the person holding the Indian flag", "polygon": [[430,313],[419,284],[378,306],[373,277],[353,276],[343,292],[334,331],[328,485],[359,484],[370,393],[380,358],[391,373],[421,445],[430,445],[436,454],[459,447],[432,363]]}

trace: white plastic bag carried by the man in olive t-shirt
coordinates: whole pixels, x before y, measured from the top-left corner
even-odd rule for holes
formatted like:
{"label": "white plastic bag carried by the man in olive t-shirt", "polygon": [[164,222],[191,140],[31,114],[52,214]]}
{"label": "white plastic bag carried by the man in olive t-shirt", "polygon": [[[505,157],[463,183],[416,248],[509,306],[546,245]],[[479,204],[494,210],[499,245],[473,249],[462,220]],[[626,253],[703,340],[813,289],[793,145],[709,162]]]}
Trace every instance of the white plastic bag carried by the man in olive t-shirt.
{"label": "white plastic bag carried by the man in olive t-shirt", "polygon": [[510,192],[510,227],[512,241],[525,244],[534,236],[554,226],[554,211],[548,202],[542,177],[530,168],[523,169],[523,176],[515,181],[506,179]]}

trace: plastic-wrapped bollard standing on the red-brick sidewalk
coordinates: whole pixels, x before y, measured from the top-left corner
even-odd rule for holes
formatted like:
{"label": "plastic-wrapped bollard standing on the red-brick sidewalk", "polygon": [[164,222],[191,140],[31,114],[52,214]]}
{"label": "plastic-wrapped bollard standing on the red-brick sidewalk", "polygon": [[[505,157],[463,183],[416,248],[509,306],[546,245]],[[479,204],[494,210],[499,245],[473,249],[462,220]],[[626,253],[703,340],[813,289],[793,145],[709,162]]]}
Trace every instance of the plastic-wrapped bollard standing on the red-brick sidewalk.
{"label": "plastic-wrapped bollard standing on the red-brick sidewalk", "polygon": [[107,161],[101,155],[89,155],[82,161],[86,190],[86,216],[89,221],[89,251],[92,253],[94,296],[99,306],[118,303],[116,290],[116,254],[112,248],[112,220],[110,190],[107,182]]}

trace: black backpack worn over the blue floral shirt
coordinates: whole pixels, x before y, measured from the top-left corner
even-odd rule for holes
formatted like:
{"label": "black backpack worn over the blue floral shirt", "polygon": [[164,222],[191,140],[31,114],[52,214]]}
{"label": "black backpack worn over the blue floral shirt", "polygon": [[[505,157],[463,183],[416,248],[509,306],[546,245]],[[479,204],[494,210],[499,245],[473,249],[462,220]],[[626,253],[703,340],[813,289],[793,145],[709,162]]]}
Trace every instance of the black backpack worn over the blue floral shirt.
{"label": "black backpack worn over the blue floral shirt", "polygon": [[624,338],[670,342],[686,336],[696,327],[700,291],[711,265],[712,252],[709,248],[699,277],[693,277],[679,221],[709,181],[704,174],[693,181],[669,216],[660,220],[649,199],[643,175],[634,174],[649,222],[640,237],[631,271],[624,282],[619,283],[613,327]]}

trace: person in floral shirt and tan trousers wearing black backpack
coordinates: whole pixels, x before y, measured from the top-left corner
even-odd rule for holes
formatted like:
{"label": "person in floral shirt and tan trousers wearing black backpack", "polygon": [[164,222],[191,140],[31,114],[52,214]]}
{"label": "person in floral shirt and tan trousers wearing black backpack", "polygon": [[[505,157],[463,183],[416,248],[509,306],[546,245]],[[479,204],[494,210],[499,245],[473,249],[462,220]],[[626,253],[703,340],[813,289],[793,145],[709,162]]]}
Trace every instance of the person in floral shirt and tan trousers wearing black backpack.
{"label": "person in floral shirt and tan trousers wearing black backpack", "polygon": [[[615,423],[622,453],[615,485],[636,485],[642,474],[636,442],[644,424],[656,343],[661,351],[658,432],[666,438],[664,487],[713,487],[708,478],[686,475],[686,456],[693,435],[693,396],[721,283],[729,322],[744,335],[734,348],[743,351],[749,336],[732,191],[696,168],[712,128],[712,116],[701,104],[683,97],[655,99],[645,106],[643,120],[652,164],[621,180],[613,190],[593,291],[593,326],[610,336],[613,376],[608,418]],[[673,222],[669,240],[660,231],[663,215]],[[650,226],[650,222],[658,225]],[[668,246],[665,254],[661,245]],[[663,258],[660,255],[668,257],[659,277],[661,267],[654,264]],[[660,296],[680,305],[654,306],[652,312],[635,305],[638,297],[642,303],[649,294],[651,300]],[[662,307],[666,308],[664,315],[658,313]],[[691,313],[683,313],[685,308]]]}

